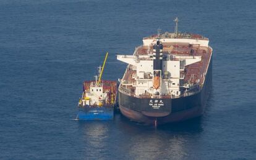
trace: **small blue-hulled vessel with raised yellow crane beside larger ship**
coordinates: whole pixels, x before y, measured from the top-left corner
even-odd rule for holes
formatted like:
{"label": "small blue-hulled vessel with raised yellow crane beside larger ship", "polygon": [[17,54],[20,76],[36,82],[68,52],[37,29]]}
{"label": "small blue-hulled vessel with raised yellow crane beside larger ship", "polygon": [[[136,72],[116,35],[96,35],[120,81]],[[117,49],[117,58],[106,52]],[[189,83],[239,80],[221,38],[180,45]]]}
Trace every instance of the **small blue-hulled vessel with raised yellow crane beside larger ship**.
{"label": "small blue-hulled vessel with raised yellow crane beside larger ship", "polygon": [[83,82],[82,98],[79,98],[79,120],[107,120],[114,117],[116,105],[117,83],[116,81],[101,80],[108,52],[103,67],[98,67],[98,75],[93,81]]}

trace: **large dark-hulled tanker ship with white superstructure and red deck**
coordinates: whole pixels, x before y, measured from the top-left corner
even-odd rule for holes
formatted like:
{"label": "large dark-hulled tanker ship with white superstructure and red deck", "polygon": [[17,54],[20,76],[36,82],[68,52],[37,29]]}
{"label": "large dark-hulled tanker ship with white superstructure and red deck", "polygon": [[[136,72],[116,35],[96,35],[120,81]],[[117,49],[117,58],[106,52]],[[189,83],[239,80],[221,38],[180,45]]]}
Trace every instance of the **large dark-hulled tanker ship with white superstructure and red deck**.
{"label": "large dark-hulled tanker ship with white superstructure and red deck", "polygon": [[199,34],[158,33],[143,38],[127,63],[118,88],[119,108],[129,119],[149,124],[202,115],[211,86],[212,51]]}

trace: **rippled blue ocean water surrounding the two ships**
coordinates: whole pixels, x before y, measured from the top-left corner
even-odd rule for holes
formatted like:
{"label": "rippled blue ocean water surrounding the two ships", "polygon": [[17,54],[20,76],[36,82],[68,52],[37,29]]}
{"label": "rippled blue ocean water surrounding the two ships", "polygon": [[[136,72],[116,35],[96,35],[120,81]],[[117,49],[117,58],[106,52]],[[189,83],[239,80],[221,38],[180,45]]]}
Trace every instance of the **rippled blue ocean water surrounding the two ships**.
{"label": "rippled blue ocean water surrounding the two ships", "polygon": [[[256,159],[256,1],[0,1],[0,159]],[[202,34],[213,86],[201,118],[155,129],[121,114],[75,121],[82,82],[109,52],[122,78],[157,29]]]}

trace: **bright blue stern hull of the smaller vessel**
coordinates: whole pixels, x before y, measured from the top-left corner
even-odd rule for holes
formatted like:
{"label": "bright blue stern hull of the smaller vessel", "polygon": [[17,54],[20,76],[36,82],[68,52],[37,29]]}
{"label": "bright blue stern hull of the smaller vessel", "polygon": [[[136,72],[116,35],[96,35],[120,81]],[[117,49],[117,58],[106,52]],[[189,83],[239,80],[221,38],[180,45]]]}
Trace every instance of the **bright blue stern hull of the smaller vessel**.
{"label": "bright blue stern hull of the smaller vessel", "polygon": [[114,107],[101,106],[90,107],[85,106],[79,108],[77,119],[79,120],[109,120],[114,118]]}

